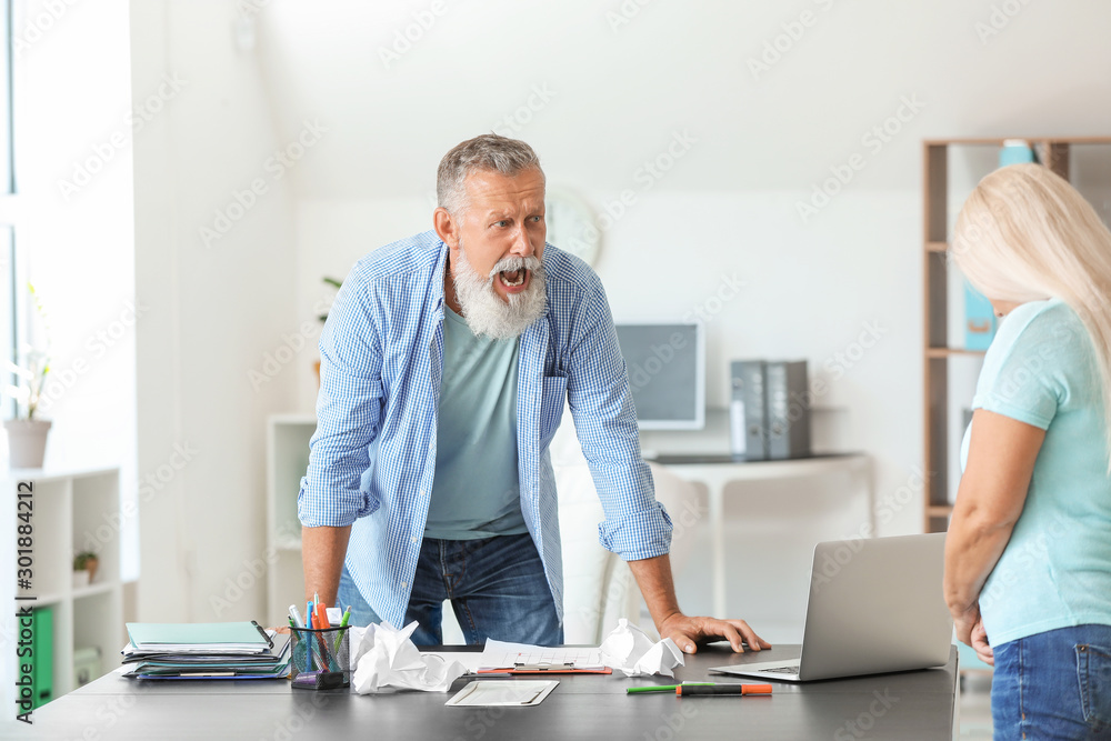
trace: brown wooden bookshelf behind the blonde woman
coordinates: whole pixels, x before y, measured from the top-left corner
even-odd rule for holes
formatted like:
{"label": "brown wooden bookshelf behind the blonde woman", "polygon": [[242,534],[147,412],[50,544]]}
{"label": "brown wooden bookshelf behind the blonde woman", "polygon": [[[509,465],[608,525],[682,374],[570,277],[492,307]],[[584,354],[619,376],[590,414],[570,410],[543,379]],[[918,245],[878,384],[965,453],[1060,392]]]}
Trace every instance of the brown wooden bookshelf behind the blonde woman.
{"label": "brown wooden bookshelf behind the blonde woman", "polygon": [[[1083,161],[1093,147],[1111,144],[1111,137],[1013,137],[1024,139],[1034,149],[1038,161],[1061,177],[1072,180],[1075,166]],[[922,242],[923,242],[923,419],[925,497],[923,521],[925,532],[943,532],[949,527],[951,500],[955,498],[953,467],[959,463],[957,451],[960,440],[954,440],[953,389],[954,371],[963,375],[979,372],[983,351],[958,347],[951,337],[950,306],[955,267],[948,263],[950,231],[960,203],[953,202],[951,163],[954,153],[969,153],[962,163],[972,162],[979,180],[994,169],[995,153],[1005,139],[963,138],[934,139],[922,142]],[[1107,152],[1108,149],[1102,150]],[[982,169],[982,171],[980,171]],[[972,182],[974,184],[974,181]],[[960,367],[960,368],[958,368]],[[960,393],[961,400],[971,403],[971,395]],[[954,444],[955,443],[955,444]]]}

